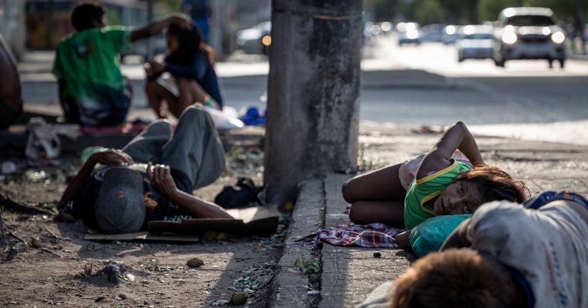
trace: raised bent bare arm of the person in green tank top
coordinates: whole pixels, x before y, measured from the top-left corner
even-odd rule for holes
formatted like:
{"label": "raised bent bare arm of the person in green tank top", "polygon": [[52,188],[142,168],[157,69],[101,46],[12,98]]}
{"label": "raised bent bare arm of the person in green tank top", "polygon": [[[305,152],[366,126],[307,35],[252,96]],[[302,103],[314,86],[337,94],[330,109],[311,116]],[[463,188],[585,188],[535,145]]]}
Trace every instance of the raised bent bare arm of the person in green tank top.
{"label": "raised bent bare arm of the person in green tank top", "polygon": [[435,146],[425,155],[419,170],[416,172],[417,180],[443,170],[451,165],[449,161],[455,150],[460,150],[472,162],[483,164],[484,160],[477,148],[476,140],[463,122],[458,121],[447,128],[445,134],[437,141]]}

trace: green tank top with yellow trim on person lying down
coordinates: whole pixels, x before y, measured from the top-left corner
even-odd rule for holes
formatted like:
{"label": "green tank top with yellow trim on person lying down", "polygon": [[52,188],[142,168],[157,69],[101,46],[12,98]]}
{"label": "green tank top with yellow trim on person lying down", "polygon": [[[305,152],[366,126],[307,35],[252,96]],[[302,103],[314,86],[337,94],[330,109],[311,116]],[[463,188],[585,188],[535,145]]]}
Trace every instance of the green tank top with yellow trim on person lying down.
{"label": "green tank top with yellow trim on person lying down", "polygon": [[437,216],[433,209],[425,202],[440,195],[443,189],[447,188],[455,177],[462,172],[471,170],[472,167],[454,160],[453,163],[420,180],[413,180],[406,192],[404,216],[406,228],[412,229],[421,224],[426,219]]}

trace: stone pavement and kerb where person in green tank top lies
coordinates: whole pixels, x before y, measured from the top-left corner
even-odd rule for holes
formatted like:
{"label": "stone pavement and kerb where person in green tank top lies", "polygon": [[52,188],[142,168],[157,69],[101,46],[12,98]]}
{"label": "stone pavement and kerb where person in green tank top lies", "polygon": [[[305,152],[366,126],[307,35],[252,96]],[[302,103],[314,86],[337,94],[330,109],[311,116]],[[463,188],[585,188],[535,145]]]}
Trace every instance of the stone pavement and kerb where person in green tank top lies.
{"label": "stone pavement and kerb where person in green tank top lies", "polygon": [[[430,149],[441,129],[424,133],[419,127],[362,122],[360,138],[363,159],[372,164],[394,164]],[[570,189],[588,195],[588,147],[525,141],[505,137],[475,136],[487,163],[497,165],[513,177],[527,181],[532,195],[543,190]],[[282,251],[269,307],[354,307],[380,283],[402,274],[415,258],[400,249],[349,248],[324,244],[312,252],[294,241],[319,228],[350,224],[343,214],[346,202],[341,186],[352,175],[328,174],[300,185],[292,223]],[[314,253],[320,260],[320,297],[309,295],[309,277],[294,265],[295,249]],[[375,258],[374,252],[381,257]],[[288,272],[293,269],[294,272]],[[310,278],[313,280],[313,278]]]}

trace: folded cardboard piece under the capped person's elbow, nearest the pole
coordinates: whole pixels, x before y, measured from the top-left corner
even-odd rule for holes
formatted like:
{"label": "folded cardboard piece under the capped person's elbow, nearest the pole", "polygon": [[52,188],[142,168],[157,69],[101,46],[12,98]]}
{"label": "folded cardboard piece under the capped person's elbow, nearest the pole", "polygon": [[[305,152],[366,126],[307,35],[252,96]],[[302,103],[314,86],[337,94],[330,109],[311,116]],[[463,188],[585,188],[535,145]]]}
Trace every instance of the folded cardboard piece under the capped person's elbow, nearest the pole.
{"label": "folded cardboard piece under the capped person's elbow, nearest the pole", "polygon": [[278,228],[279,212],[275,208],[251,207],[228,209],[235,219],[196,218],[182,219],[181,222],[150,221],[149,232],[174,232],[198,234],[206,231],[229,232],[238,235],[275,233]]}

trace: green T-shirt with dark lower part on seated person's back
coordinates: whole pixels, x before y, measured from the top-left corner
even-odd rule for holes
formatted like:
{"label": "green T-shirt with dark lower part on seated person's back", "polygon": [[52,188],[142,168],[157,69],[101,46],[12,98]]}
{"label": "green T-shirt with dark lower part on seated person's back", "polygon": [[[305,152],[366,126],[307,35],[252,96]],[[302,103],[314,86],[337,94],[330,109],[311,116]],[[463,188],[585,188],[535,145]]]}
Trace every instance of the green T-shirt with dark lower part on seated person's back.
{"label": "green T-shirt with dark lower part on seated person's back", "polygon": [[85,29],[61,40],[52,73],[65,81],[66,116],[86,125],[126,116],[130,93],[118,54],[130,47],[131,31],[123,26]]}

